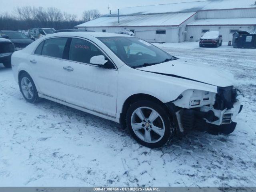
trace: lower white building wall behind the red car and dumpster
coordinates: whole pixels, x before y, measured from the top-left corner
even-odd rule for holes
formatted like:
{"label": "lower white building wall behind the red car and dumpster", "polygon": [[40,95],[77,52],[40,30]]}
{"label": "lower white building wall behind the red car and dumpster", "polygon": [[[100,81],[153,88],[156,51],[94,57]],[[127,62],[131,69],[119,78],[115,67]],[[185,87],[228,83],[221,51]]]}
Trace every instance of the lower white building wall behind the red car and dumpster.
{"label": "lower white building wall behind the red car and dumpster", "polygon": [[186,41],[190,41],[190,36],[193,36],[192,41],[199,41],[200,37],[204,35],[202,29],[209,29],[210,31],[220,31],[223,41],[232,41],[233,33],[230,33],[230,29],[238,30],[254,30],[255,26],[187,26]]}

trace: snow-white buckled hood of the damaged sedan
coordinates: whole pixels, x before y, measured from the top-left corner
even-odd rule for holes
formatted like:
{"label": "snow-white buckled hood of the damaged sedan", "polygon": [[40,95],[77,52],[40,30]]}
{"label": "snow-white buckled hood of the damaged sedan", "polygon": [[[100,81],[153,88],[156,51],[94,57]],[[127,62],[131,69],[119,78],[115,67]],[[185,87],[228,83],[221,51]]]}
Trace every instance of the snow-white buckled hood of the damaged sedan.
{"label": "snow-white buckled hood of the damaged sedan", "polygon": [[137,69],[220,87],[234,85],[233,74],[204,64],[188,63],[182,59]]}

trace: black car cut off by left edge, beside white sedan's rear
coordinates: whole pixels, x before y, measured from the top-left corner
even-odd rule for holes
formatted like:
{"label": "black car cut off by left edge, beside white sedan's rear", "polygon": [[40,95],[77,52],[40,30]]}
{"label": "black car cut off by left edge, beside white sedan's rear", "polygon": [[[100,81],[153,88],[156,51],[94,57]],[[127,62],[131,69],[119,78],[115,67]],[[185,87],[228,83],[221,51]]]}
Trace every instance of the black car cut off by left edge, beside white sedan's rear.
{"label": "black car cut off by left edge, beside white sedan's rear", "polygon": [[3,63],[5,67],[11,67],[11,56],[14,52],[14,44],[4,38],[0,38],[0,63]]}

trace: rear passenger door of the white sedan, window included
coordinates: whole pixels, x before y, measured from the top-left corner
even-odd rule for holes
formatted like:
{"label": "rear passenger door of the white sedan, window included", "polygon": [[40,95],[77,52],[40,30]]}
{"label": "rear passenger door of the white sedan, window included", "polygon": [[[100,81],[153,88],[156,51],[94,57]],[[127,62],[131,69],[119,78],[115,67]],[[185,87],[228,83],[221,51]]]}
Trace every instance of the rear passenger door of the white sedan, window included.
{"label": "rear passenger door of the white sedan, window included", "polygon": [[52,98],[65,100],[66,66],[63,60],[68,38],[50,38],[44,40],[30,55],[29,61],[36,78],[38,92]]}

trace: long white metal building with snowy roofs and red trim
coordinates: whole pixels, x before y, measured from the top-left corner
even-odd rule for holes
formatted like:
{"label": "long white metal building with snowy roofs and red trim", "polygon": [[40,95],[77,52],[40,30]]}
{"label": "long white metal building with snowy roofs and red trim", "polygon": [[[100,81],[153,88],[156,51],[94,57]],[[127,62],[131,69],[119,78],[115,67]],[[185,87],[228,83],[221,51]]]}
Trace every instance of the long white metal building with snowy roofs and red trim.
{"label": "long white metal building with snowy roofs and red trim", "polygon": [[256,0],[128,7],[120,9],[119,17],[118,12],[114,12],[75,28],[97,32],[131,30],[149,42],[198,41],[207,31],[220,31],[223,41],[229,41],[236,30],[256,30]]}

